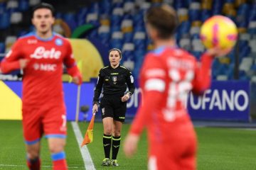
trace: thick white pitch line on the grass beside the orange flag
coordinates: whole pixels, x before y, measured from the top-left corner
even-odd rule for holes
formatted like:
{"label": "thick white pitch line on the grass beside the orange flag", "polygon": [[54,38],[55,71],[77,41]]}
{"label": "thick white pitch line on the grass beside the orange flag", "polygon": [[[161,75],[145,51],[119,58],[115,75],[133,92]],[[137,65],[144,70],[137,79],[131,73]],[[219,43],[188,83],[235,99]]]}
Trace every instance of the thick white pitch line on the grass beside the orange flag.
{"label": "thick white pitch line on the grass beside the orange flag", "polygon": [[82,137],[80,128],[78,126],[78,123],[72,122],[71,125],[73,127],[74,132],[75,132],[75,137],[76,137],[76,139],[78,141],[78,147],[80,148],[80,152],[82,154],[82,159],[83,159],[84,164],[85,164],[85,169],[87,169],[87,170],[95,170],[95,166],[94,166],[94,164],[92,162],[92,158],[90,157],[90,152],[89,152],[87,146],[85,145],[82,148],[80,147],[80,145],[82,143],[82,140],[83,140],[83,137]]}

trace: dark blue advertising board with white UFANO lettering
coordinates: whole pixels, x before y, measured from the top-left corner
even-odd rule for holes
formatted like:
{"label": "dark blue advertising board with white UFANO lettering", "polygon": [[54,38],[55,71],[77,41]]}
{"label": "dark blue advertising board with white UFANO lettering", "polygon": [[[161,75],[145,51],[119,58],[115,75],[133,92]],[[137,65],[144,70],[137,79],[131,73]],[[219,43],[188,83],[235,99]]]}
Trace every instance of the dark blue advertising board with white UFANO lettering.
{"label": "dark blue advertising board with white UFANO lettering", "polygon": [[[134,95],[127,102],[127,117],[139,106],[142,92],[136,84]],[[193,120],[250,120],[250,82],[213,81],[202,96],[189,94],[188,112]]]}

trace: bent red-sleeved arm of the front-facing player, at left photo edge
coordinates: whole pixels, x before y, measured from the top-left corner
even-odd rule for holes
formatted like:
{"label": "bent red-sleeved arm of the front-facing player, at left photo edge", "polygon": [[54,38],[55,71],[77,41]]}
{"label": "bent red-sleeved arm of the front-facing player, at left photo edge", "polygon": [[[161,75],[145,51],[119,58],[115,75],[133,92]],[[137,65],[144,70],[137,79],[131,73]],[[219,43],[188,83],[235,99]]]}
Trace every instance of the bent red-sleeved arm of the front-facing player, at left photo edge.
{"label": "bent red-sleeved arm of the front-facing player, at left photo edge", "polygon": [[1,72],[8,74],[16,69],[23,69],[28,64],[28,60],[22,59],[21,42],[17,40],[11,50],[1,61]]}

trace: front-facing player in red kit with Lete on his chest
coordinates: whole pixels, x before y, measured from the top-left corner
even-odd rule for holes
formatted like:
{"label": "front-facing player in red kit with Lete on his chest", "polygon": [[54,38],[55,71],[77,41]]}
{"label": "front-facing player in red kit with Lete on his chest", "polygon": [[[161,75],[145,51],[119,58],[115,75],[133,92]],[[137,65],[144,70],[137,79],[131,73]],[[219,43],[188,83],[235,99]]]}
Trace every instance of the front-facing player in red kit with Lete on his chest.
{"label": "front-facing player in red kit with Lete on his chest", "polygon": [[40,140],[44,134],[54,170],[68,169],[65,160],[66,111],[63,63],[75,84],[82,83],[70,42],[53,33],[54,9],[42,3],[33,8],[35,33],[19,38],[1,62],[1,71],[23,69],[22,116],[29,169],[41,169]]}

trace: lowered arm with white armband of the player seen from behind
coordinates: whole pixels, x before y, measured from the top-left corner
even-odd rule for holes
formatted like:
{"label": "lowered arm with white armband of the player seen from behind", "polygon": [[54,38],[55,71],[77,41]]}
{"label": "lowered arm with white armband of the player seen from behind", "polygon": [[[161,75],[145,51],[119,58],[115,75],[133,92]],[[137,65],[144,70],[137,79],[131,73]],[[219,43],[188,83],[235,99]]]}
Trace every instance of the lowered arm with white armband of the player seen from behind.
{"label": "lowered arm with white armband of the player seen from behind", "polygon": [[131,157],[137,150],[139,135],[146,125],[154,121],[155,114],[159,113],[159,106],[163,103],[163,93],[166,89],[166,72],[159,58],[146,58],[142,77],[144,77],[144,89],[142,103],[135,115],[129,133],[124,141],[124,154]]}

